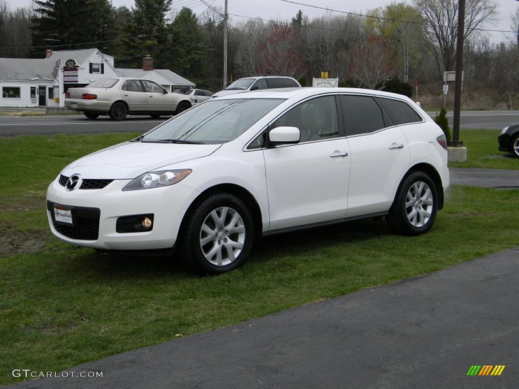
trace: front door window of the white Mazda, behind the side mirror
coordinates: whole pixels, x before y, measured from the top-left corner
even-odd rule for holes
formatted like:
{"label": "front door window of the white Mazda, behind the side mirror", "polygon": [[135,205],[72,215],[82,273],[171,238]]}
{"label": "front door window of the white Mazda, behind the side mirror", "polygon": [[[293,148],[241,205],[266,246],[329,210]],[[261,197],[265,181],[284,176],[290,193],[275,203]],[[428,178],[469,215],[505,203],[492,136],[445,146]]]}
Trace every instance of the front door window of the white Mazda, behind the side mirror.
{"label": "front door window of the white Mazda, behind the side mirror", "polygon": [[319,141],[338,136],[334,96],[323,96],[301,103],[274,122],[272,128],[297,127],[299,142]]}

